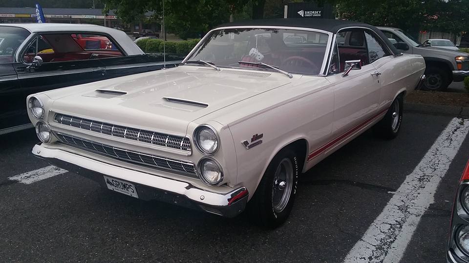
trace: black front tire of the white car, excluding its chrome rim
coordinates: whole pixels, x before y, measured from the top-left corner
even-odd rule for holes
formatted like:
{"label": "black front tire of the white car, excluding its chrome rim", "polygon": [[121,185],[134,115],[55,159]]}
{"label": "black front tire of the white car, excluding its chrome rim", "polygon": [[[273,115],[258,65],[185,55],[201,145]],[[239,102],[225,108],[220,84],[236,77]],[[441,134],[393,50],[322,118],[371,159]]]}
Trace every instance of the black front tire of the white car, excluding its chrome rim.
{"label": "black front tire of the white car, excluding its chrome rim", "polygon": [[[279,206],[275,206],[274,203],[277,205],[282,203],[274,201],[274,193],[280,193],[287,189],[285,187],[283,190],[280,190],[280,183],[276,180],[276,171],[279,166],[285,167],[285,164],[288,161],[291,162],[292,165],[292,181],[291,181],[291,189],[289,195],[283,194],[283,196],[288,196],[288,200],[283,202],[283,208],[279,210]],[[288,166],[288,165],[287,165]],[[298,162],[298,156],[295,151],[291,149],[281,150],[277,155],[274,157],[272,162],[267,167],[259,185],[257,186],[256,192],[254,193],[253,198],[249,201],[247,206],[247,212],[251,220],[256,224],[264,228],[273,229],[280,225],[282,225],[290,215],[290,212],[293,207],[293,203],[295,201],[295,195],[297,192],[297,185],[298,185],[298,176],[300,173],[300,167]],[[280,169],[282,170],[282,168]],[[286,169],[285,169],[286,170]],[[281,172],[280,172],[281,173]],[[285,173],[286,174],[286,173]],[[286,182],[285,180],[283,182]],[[277,184],[276,184],[277,183]],[[287,183],[288,184],[288,183]],[[278,189],[277,189],[278,187]],[[275,191],[274,191],[274,188]],[[277,196],[277,195],[276,195]]]}

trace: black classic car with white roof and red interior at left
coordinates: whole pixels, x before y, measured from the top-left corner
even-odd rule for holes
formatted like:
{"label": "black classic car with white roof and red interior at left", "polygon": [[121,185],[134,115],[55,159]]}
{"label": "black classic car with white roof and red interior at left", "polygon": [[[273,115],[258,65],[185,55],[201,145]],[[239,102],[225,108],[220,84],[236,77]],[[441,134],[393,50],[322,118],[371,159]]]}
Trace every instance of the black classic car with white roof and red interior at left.
{"label": "black classic car with white roof and red interior at left", "polygon": [[[166,67],[182,56],[167,56]],[[31,128],[29,94],[159,70],[124,32],[85,24],[0,24],[0,135]]]}

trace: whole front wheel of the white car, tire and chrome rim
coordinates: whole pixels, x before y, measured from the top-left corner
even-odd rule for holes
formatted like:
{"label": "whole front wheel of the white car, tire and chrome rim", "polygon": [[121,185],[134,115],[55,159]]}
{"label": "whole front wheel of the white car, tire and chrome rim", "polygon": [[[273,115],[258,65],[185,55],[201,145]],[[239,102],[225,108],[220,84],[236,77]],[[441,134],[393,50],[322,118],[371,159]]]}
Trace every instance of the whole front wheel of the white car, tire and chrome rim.
{"label": "whole front wheel of the white car, tire and chrome rim", "polygon": [[248,203],[247,211],[257,225],[276,228],[287,220],[297,192],[298,175],[297,154],[290,149],[280,151]]}

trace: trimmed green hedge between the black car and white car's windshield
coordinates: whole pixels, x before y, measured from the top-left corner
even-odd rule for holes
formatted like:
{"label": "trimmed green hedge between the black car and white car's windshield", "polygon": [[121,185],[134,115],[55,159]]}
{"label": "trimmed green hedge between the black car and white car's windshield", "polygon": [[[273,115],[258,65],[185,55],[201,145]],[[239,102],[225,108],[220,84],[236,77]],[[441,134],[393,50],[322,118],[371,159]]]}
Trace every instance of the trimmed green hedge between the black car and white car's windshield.
{"label": "trimmed green hedge between the black car and white car's windshield", "polygon": [[163,53],[166,48],[167,54],[187,55],[200,39],[191,39],[184,41],[166,41],[163,45],[162,39],[145,38],[137,40],[137,46],[145,53]]}

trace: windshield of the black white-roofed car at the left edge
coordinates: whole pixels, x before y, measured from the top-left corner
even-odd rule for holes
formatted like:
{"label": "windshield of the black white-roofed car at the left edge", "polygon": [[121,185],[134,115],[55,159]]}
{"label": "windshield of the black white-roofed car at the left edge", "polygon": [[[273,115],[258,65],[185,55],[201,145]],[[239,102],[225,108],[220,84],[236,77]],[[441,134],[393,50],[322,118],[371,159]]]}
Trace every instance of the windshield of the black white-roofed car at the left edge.
{"label": "windshield of the black white-roofed car at the left edge", "polygon": [[0,63],[13,62],[16,50],[29,34],[23,28],[0,26]]}

